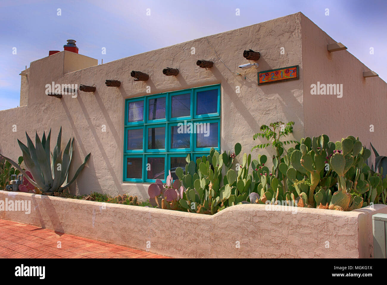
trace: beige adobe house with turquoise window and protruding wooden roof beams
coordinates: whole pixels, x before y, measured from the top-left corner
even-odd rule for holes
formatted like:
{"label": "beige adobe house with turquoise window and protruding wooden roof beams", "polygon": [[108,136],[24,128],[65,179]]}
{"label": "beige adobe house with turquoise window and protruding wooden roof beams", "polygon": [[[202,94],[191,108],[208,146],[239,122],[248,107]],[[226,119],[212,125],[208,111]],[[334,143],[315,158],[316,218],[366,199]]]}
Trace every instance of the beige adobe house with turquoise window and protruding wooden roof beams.
{"label": "beige adobe house with turquoise window and protruding wooden roof beams", "polygon": [[[249,49],[258,60],[243,57]],[[21,107],[0,111],[0,150],[16,159],[25,131],[41,136],[52,128],[56,138],[62,126],[63,140],[75,137],[70,172],[91,152],[74,193],[146,199],[149,181],[185,166],[187,154],[232,150],[236,142],[250,153],[259,143],[253,134],[273,121],[295,121],[297,140],[325,133],[332,141],[359,136],[380,150],[385,144],[387,84],[301,12],[101,65],[78,54],[75,41],[50,54],[22,71]],[[248,63],[259,66],[238,67]],[[52,82],[77,84],[77,95],[60,88],[61,98],[48,96]],[[179,132],[184,121],[209,132]],[[272,156],[271,149],[260,153]]]}

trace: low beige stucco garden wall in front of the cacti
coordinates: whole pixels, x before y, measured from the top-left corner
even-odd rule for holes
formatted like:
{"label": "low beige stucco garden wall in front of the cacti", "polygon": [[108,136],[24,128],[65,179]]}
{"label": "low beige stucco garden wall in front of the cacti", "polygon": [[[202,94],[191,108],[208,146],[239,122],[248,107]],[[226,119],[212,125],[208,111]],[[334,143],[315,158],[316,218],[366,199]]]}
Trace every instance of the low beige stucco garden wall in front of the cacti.
{"label": "low beige stucco garden wall in front of the cacti", "polygon": [[387,213],[380,204],[351,212],[275,211],[280,206],[268,211],[266,205],[244,204],[209,216],[0,191],[0,201],[6,199],[31,201],[31,212],[0,211],[2,219],[166,256],[199,258],[372,257],[372,215]]}

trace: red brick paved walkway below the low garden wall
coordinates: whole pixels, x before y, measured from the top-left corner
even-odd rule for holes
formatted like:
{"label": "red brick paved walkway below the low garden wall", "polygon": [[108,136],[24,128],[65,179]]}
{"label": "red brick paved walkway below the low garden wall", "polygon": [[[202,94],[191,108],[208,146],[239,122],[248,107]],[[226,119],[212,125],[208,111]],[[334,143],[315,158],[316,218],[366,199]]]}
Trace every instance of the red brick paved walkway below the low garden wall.
{"label": "red brick paved walkway below the low garden wall", "polygon": [[168,257],[0,219],[0,258]]}

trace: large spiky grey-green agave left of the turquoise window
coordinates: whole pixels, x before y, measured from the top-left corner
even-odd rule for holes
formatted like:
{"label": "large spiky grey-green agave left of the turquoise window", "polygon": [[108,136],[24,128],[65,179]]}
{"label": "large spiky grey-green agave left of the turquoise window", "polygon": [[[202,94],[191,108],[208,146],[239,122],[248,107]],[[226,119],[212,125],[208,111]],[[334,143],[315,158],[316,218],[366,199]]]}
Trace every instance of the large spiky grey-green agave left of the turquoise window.
{"label": "large spiky grey-green agave left of the turquoise window", "polygon": [[40,140],[38,133],[35,135],[35,145],[31,138],[29,138],[27,132],[27,146],[20,140],[17,140],[19,147],[23,153],[24,163],[28,170],[31,172],[33,179],[21,169],[19,164],[12,161],[8,157],[0,154],[7,159],[16,169],[18,169],[24,177],[35,187],[45,195],[53,195],[54,192],[62,192],[71,183],[75,181],[80,171],[85,167],[86,162],[90,158],[90,153],[86,155],[82,165],[79,166],[75,172],[74,177],[67,182],[68,170],[70,169],[72,159],[72,149],[74,145],[74,138],[68,140],[66,148],[62,155],[62,149],[60,143],[62,139],[62,127],[60,128],[57,145],[55,145],[54,151],[50,152],[50,138],[51,129],[46,138],[43,132],[42,140]]}

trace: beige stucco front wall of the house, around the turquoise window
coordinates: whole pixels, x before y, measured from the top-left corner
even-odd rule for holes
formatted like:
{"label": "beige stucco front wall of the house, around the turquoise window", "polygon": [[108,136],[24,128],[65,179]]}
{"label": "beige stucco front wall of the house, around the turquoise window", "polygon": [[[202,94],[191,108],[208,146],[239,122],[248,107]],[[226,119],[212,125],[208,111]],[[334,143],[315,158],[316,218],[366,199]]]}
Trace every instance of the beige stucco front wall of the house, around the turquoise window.
{"label": "beige stucco front wall of the house, around the turquoise window", "polygon": [[[147,184],[122,182],[125,98],[216,83],[221,83],[222,150],[232,149],[236,142],[241,142],[242,150],[249,153],[252,146],[259,143],[253,141],[252,136],[260,126],[279,120],[295,121],[294,135],[300,139],[304,136],[302,80],[258,86],[255,68],[246,72],[238,68],[248,62],[243,58],[243,50],[252,48],[261,53],[259,70],[298,64],[302,78],[300,18],[301,13],[297,13],[66,74],[64,71],[82,67],[76,64],[77,60],[89,66],[93,63],[89,58],[70,52],[36,60],[31,63],[27,78],[28,106],[0,111],[0,150],[16,159],[21,155],[17,139],[26,142],[25,131],[33,135],[38,130],[41,136],[43,130],[52,128],[52,135],[56,137],[62,126],[63,140],[75,137],[75,168],[70,170],[70,175],[89,152],[92,154],[87,168],[70,188],[73,192],[131,193],[146,199]],[[195,54],[192,54],[192,47]],[[213,47],[231,71],[243,75],[231,73],[217,58]],[[285,48],[284,55],[280,54],[281,47]],[[213,60],[214,67],[202,69],[196,66],[198,59]],[[176,77],[164,76],[165,67],[178,68],[180,73]],[[146,72],[150,79],[135,82],[130,77],[132,70]],[[107,87],[106,79],[118,79],[121,86]],[[64,95],[59,100],[45,95],[45,85],[51,81],[93,85],[96,92],[79,92],[77,98]],[[147,86],[151,87],[150,94],[146,93]],[[240,86],[240,93],[236,93],[237,86]],[[14,124],[17,132],[12,132]],[[101,131],[102,125],[106,126],[106,132]],[[261,153],[272,155],[266,151]],[[254,153],[253,158],[256,156]]]}

